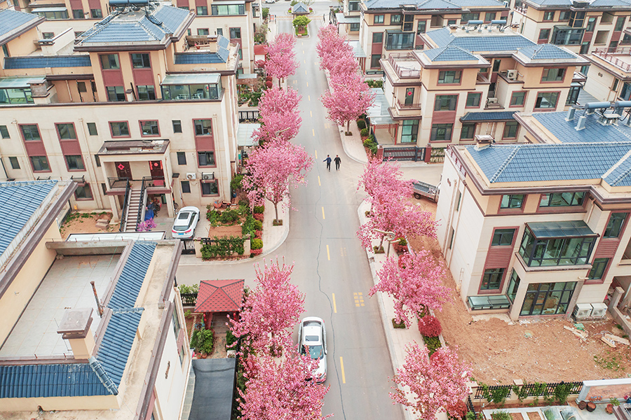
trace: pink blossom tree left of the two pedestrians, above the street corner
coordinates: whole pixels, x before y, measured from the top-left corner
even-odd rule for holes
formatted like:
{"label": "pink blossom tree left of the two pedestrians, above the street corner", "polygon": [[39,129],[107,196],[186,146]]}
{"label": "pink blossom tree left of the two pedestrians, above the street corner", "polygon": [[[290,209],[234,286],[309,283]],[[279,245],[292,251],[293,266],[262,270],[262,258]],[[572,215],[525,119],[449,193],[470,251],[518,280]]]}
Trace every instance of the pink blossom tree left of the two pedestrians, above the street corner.
{"label": "pink blossom tree left of the two pedestrians, above the street corner", "polygon": [[242,181],[245,190],[249,190],[250,207],[253,209],[269,200],[274,204],[278,221],[278,204],[285,200],[285,207],[291,208],[290,187],[306,184],[304,177],[311,165],[313,158],[304,148],[289,141],[272,139],[255,148],[247,158],[246,168],[250,175]]}

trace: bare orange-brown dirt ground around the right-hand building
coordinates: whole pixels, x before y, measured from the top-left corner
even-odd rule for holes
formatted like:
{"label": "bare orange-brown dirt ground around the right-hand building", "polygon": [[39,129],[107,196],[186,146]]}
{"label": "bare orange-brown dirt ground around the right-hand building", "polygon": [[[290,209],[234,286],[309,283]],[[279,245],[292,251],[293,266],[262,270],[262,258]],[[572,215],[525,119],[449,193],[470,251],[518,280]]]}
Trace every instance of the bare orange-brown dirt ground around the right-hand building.
{"label": "bare orange-brown dirt ground around the right-hand building", "polygon": [[[435,214],[436,204],[414,200],[421,209]],[[435,239],[410,241],[414,250],[428,249],[435,258],[442,258]],[[484,384],[513,384],[513,379],[528,382],[582,381],[588,379],[627,377],[631,374],[629,346],[610,348],[600,337],[602,332],[620,335],[611,321],[586,322],[589,333],[583,342],[563,326],[569,321],[517,321],[509,325],[504,319],[471,316],[456,284],[447,270],[445,284],[452,288],[453,304],[445,304],[436,317],[442,324],[447,344],[459,347],[459,355],[473,365],[473,377]],[[488,318],[488,319],[485,319]],[[508,320],[508,316],[503,316]]]}

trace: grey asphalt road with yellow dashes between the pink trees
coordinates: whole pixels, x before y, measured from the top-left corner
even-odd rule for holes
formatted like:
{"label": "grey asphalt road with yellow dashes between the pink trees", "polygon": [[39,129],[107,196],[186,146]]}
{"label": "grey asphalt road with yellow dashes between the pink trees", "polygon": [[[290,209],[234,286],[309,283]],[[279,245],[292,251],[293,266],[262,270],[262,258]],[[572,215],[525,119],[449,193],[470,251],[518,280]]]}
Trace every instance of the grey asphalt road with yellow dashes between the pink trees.
{"label": "grey asphalt road with yellow dashes between the pink trees", "polygon": [[[357,209],[363,200],[357,191],[362,165],[349,159],[341,146],[337,125],[326,119],[320,95],[327,90],[323,71],[316,64],[317,29],[331,2],[313,3],[309,25],[311,38],[299,38],[296,56],[300,66],[288,86],[302,95],[299,109],[302,126],[294,141],[315,160],[308,185],[292,190],[290,233],[269,258],[295,263],[292,282],[306,293],[304,316],[320,316],[327,325],[328,372],[323,414],[336,419],[402,419],[402,409],[393,405],[393,370],[376,298],[367,296],[372,276],[365,251],[355,236],[359,228]],[[278,32],[292,31],[284,14],[288,1],[265,5],[278,16]],[[284,16],[287,16],[283,19]],[[326,155],[341,157],[341,169],[328,172]],[[180,283],[203,279],[245,278],[252,283],[254,268],[245,261],[226,265],[182,266]],[[297,331],[294,331],[294,341]]]}

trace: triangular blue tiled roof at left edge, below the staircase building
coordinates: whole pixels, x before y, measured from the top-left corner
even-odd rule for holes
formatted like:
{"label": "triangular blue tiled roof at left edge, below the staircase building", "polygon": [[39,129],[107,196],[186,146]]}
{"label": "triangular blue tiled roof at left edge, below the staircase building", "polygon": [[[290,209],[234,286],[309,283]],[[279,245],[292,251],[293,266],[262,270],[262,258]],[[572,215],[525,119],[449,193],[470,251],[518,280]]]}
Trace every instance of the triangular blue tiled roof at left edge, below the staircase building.
{"label": "triangular blue tiled roof at left edge, below the staircase building", "polygon": [[0,254],[56,185],[54,180],[0,183]]}

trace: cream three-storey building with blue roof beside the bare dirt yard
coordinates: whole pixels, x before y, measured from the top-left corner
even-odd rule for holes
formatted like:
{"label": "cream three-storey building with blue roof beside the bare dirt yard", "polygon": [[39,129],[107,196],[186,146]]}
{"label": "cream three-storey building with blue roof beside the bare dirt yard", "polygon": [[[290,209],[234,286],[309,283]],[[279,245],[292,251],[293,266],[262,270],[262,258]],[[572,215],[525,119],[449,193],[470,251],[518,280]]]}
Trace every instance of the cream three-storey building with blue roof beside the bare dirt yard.
{"label": "cream three-storey building with blue roof beside the bare dirt yard", "polygon": [[629,303],[631,127],[593,107],[518,113],[529,143],[449,147],[437,234],[469,311],[567,316],[610,286]]}

